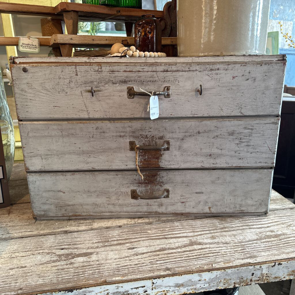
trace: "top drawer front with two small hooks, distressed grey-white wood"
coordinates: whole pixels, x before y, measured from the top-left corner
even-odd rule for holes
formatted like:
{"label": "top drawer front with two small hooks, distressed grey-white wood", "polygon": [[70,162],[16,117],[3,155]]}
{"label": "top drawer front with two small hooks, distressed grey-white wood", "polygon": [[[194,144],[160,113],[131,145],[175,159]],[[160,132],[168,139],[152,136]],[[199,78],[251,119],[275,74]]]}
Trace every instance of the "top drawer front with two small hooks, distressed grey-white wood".
{"label": "top drawer front with two small hooks, distressed grey-white wood", "polygon": [[128,99],[127,87],[169,86],[169,97],[159,96],[160,118],[278,115],[284,71],[284,61],[43,63],[13,65],[12,77],[21,120],[130,119],[149,117],[149,97]]}

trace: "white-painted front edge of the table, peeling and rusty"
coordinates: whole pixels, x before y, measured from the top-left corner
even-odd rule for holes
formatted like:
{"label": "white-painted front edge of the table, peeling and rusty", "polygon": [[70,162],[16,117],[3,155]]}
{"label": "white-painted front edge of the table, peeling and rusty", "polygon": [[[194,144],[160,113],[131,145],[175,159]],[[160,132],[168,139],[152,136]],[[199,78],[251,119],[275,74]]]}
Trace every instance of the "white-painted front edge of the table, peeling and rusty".
{"label": "white-painted front edge of the table, peeling and rusty", "polygon": [[295,278],[295,260],[38,295],[181,295]]}

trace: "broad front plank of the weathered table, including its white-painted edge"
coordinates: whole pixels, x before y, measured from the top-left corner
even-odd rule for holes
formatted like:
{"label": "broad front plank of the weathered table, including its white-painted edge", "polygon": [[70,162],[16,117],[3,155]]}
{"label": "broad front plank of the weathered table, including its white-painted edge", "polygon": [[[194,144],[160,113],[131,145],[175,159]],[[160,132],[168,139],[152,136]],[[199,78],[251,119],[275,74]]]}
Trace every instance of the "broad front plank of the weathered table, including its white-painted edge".
{"label": "broad front plank of the weathered table, including its white-painted edge", "polygon": [[[111,283],[151,278],[155,292],[169,290],[170,295],[180,283],[196,292],[217,282],[220,286],[220,280],[226,288],[294,278],[294,224],[295,210],[283,210],[266,217],[218,217],[4,240],[1,292],[34,294],[104,285],[100,294],[106,294],[106,289],[114,292],[106,287]],[[147,285],[137,287],[142,294],[144,288],[146,294],[157,294]]]}

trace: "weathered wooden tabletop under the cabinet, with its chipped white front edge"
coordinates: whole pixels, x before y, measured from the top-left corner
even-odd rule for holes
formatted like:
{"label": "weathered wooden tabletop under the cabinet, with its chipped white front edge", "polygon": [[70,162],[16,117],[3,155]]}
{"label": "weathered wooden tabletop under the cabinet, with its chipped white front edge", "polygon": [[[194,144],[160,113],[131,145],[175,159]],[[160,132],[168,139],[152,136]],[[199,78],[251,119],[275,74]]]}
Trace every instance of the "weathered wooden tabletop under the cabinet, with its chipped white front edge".
{"label": "weathered wooden tabletop under the cabinet, with its chipped white front edge", "polygon": [[295,278],[295,206],[249,217],[35,221],[23,163],[0,209],[0,294],[176,295]]}

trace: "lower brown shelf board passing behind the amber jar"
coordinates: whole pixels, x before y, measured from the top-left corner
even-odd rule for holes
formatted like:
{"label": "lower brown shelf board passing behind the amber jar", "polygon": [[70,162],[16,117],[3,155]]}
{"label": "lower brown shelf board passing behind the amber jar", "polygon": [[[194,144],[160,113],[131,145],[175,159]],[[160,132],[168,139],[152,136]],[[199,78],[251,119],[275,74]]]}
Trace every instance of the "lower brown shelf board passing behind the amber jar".
{"label": "lower brown shelf board passing behind the amber jar", "polygon": [[[95,45],[113,45],[114,43],[123,43],[125,45],[133,45],[134,37],[118,37],[118,36],[89,36],[89,35],[63,35],[53,34],[50,38],[50,45],[73,44],[76,47],[95,46]],[[162,45],[176,45],[177,38],[162,38]]]}

